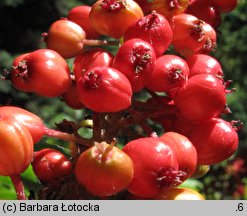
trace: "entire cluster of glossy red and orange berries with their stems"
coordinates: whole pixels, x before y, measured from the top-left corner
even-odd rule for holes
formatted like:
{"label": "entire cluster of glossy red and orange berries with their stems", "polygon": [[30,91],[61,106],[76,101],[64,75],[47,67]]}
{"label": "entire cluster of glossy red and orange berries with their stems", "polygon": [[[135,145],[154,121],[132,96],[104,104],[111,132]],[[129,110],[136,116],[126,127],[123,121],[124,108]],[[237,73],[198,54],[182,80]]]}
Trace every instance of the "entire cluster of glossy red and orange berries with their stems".
{"label": "entire cluster of glossy red and orange berries with their stems", "polygon": [[[111,133],[111,144],[104,142],[107,131],[98,128],[101,124],[94,117],[93,130],[100,133],[86,140],[48,129],[38,116],[20,108],[0,107],[0,175],[15,182],[32,161],[41,181],[74,171],[77,181],[98,197],[128,190],[130,197],[140,199],[175,199],[184,193],[203,199],[176,187],[196,175],[200,166],[219,163],[238,147],[235,122],[221,118],[229,112],[229,82],[223,79],[220,63],[209,55],[216,48],[214,28],[220,24],[220,12],[231,11],[237,1],[138,3],[98,0],[92,7],[73,8],[68,18],[55,21],[43,34],[47,49],[14,60],[11,81],[24,92],[60,96],[68,106],[90,109],[93,116],[104,115],[105,121],[118,113],[111,127],[143,126],[151,119],[166,133],[149,133],[121,150],[115,146],[118,133]],[[116,43],[97,40],[100,35],[121,38],[115,55],[101,47],[89,48]],[[175,54],[166,54],[171,47]],[[74,58],[73,72],[68,58]],[[151,97],[136,101],[134,94],[140,91]],[[74,163],[51,149],[33,154],[33,143],[43,135],[86,144],[88,149],[79,152]],[[17,163],[9,162],[11,158]]]}

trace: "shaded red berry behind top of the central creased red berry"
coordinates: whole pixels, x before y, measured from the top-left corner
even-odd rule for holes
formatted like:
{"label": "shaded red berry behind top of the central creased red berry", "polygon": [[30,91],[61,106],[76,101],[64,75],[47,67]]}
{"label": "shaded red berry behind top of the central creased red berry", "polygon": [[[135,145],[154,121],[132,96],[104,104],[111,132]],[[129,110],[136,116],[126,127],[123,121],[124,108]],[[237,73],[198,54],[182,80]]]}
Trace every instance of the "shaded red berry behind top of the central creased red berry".
{"label": "shaded red berry behind top of the central creased red berry", "polygon": [[111,67],[113,58],[114,56],[110,52],[102,48],[92,48],[77,55],[73,65],[76,82],[85,71],[92,67]]}

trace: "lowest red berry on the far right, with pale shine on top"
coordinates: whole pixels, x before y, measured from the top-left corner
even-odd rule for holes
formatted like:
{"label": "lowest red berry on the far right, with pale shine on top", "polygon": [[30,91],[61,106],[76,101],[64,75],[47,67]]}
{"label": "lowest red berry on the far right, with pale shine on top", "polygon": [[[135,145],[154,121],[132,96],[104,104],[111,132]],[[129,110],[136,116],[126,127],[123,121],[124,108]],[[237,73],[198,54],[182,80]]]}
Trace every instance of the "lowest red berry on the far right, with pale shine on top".
{"label": "lowest red berry on the far right, with pale shine on top", "polygon": [[212,118],[196,126],[189,139],[197,150],[199,165],[219,163],[234,154],[238,147],[236,130],[220,118]]}

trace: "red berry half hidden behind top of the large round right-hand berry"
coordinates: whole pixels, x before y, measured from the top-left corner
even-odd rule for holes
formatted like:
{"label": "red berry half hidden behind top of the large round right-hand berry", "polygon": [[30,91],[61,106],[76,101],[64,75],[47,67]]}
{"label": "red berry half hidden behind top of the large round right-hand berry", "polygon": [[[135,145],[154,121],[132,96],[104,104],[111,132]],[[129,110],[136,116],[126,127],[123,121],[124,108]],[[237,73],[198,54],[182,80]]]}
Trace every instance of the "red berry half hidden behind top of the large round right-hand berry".
{"label": "red berry half hidden behind top of the large round right-hand berry", "polygon": [[223,78],[224,73],[217,59],[204,54],[195,54],[187,60],[190,68],[189,78],[198,74],[210,74],[218,78]]}

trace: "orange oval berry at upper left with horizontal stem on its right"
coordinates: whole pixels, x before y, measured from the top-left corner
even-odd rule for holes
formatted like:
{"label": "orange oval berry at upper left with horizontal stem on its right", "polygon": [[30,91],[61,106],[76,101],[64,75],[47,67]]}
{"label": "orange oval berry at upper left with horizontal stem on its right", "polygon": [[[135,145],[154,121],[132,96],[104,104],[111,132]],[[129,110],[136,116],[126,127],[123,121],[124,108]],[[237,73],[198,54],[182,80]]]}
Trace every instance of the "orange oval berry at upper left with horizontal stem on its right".
{"label": "orange oval berry at upper left with horizontal stem on its right", "polygon": [[82,52],[85,38],[84,30],[66,19],[52,23],[48,33],[44,34],[47,48],[58,52],[64,58],[72,58]]}

